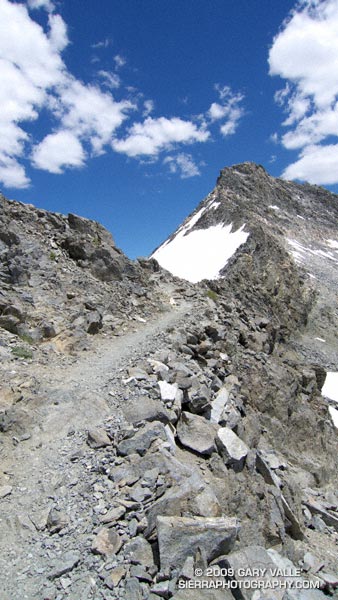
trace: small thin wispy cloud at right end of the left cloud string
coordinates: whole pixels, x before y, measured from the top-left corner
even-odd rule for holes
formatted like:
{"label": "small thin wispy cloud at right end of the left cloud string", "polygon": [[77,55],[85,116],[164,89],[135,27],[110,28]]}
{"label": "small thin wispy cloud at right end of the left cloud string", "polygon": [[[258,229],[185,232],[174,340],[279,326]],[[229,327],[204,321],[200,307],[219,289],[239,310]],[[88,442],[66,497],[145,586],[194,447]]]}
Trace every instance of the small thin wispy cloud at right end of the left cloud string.
{"label": "small thin wispy cloud at right end of the left cloud string", "polygon": [[220,102],[213,102],[208,110],[207,117],[213,121],[224,121],[220,132],[224,137],[235,133],[240,119],[244,115],[241,106],[244,100],[243,94],[235,93],[229,86],[215,86],[218,91]]}

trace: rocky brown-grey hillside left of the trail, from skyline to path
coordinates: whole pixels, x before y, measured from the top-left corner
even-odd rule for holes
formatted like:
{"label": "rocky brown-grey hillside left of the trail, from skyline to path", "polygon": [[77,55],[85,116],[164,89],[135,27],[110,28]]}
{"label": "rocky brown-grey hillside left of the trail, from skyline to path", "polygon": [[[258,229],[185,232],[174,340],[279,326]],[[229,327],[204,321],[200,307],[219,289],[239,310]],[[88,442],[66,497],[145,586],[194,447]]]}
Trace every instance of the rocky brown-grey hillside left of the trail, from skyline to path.
{"label": "rocky brown-grey hillside left of the trail, from skyline to path", "polygon": [[159,290],[156,268],[129,260],[99,223],[0,195],[0,331],[86,347],[87,334],[165,310],[170,285]]}

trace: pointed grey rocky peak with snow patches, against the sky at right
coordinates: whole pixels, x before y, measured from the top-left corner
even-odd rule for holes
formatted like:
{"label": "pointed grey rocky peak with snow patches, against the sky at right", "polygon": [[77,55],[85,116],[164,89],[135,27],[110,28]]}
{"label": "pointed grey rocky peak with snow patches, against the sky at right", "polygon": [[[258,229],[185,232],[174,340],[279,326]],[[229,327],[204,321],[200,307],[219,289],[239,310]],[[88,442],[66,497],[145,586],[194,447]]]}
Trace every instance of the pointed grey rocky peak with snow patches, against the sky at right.
{"label": "pointed grey rocky peak with snow patches, against the sky at right", "polygon": [[[338,318],[337,222],[337,195],[276,179],[260,165],[243,163],[221,171],[214,190],[153,256],[171,273],[194,282],[206,278],[220,283],[224,278],[229,285],[241,270],[250,281],[257,270],[256,286],[262,274],[271,279],[270,298],[278,295],[272,281],[280,289],[284,280],[291,297],[300,277],[308,297],[312,289],[319,298],[311,336],[330,340],[330,322]],[[251,267],[244,264],[248,257]],[[251,294],[256,302],[257,291]],[[336,356],[333,340],[331,346]]]}

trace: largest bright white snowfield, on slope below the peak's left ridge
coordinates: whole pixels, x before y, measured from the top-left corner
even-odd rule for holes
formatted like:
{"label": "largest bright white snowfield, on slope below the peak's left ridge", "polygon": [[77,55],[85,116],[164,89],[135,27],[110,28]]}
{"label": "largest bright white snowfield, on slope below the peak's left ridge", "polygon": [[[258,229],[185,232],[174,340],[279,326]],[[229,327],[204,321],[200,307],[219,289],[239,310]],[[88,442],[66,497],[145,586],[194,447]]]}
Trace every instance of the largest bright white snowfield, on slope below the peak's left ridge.
{"label": "largest bright white snowfield, on slope below the peak's left ridge", "polygon": [[218,224],[188,233],[189,223],[172,240],[162,244],[152,257],[161,267],[191,283],[216,279],[229,258],[246,242],[249,233],[243,231],[244,227],[232,232],[231,223]]}

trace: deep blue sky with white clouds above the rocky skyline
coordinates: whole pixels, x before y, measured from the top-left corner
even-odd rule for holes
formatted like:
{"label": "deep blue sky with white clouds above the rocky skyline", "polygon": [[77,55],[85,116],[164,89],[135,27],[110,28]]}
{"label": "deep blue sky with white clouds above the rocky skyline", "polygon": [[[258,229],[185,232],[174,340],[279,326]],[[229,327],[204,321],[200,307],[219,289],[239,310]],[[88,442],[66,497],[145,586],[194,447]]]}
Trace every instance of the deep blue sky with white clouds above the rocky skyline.
{"label": "deep blue sky with white clouds above the rocky skyline", "polygon": [[148,255],[224,166],[338,187],[338,0],[0,0],[0,189]]}

